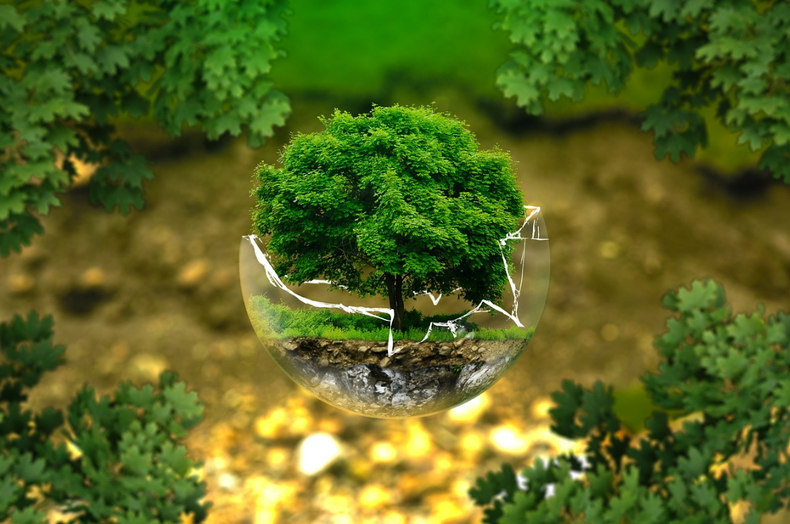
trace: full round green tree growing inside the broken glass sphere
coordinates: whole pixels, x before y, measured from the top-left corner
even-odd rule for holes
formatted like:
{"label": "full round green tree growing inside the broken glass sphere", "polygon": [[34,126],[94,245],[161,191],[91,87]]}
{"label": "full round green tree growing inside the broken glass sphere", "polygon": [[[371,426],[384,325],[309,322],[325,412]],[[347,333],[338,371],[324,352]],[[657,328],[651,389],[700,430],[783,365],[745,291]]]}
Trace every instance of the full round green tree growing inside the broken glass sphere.
{"label": "full round green tree growing inside the broken glass sphere", "polygon": [[507,153],[480,150],[464,123],[429,107],[321,121],[284,148],[282,168],[256,171],[254,227],[271,235],[278,273],[388,296],[395,330],[416,292],[502,298],[498,239],[524,217]]}

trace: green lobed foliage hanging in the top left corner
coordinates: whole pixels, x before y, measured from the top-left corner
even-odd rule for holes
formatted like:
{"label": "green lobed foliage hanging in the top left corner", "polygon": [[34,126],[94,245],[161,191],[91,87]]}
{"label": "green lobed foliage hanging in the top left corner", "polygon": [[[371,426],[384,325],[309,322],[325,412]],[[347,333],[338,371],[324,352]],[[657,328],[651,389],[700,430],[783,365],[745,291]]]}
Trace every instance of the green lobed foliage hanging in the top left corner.
{"label": "green lobed foliage hanging in the top left corner", "polygon": [[284,33],[284,0],[101,0],[0,6],[0,254],[42,228],[76,176],[99,164],[91,198],[126,214],[143,206],[145,159],[110,119],[152,112],[173,135],[249,129],[261,145],[290,112],[266,80]]}

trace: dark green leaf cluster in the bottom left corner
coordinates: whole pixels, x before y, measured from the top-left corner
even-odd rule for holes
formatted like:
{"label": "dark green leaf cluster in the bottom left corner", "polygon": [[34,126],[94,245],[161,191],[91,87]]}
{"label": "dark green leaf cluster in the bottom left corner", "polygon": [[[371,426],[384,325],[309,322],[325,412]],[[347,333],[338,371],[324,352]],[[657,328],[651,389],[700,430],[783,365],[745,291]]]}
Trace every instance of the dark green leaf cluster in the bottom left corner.
{"label": "dark green leaf cluster in the bottom left corner", "polygon": [[65,414],[23,409],[26,390],[63,364],[52,325],[35,313],[0,323],[0,520],[43,523],[54,509],[77,522],[205,520],[199,464],[179,443],[203,406],[171,372],[158,389],[122,383],[111,397],[83,386]]}

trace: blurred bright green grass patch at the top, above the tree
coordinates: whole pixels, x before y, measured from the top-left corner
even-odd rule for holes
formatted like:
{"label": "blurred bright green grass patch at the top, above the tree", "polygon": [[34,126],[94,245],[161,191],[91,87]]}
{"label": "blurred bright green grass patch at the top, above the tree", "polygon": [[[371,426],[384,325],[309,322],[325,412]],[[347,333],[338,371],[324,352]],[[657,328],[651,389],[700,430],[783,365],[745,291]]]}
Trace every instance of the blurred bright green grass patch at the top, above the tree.
{"label": "blurred bright green grass patch at the top, above the tree", "polygon": [[[371,96],[405,74],[419,83],[460,84],[498,97],[494,79],[510,40],[492,26],[487,2],[291,0],[288,53],[273,64],[283,92]],[[430,100],[428,100],[430,102]]]}

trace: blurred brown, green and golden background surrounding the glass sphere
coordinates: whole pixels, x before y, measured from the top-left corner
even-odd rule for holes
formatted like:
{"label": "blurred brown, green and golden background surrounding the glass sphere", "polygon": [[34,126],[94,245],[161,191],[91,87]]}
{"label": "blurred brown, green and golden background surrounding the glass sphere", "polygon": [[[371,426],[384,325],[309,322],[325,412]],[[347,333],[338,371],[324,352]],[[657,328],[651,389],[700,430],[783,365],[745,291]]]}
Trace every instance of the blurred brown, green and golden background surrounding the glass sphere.
{"label": "blurred brown, green and golden background surrounding the glass sphere", "polygon": [[[82,383],[104,394],[171,369],[206,405],[187,446],[204,461],[209,522],[480,522],[467,495],[476,477],[577,446],[549,431],[563,379],[615,386],[615,407],[640,431],[649,405],[638,376],[658,362],[668,289],[713,277],[735,311],[787,311],[790,188],[719,126],[695,160],[656,161],[637,115],[663,90],[665,66],[638,70],[619,96],[592,90],[545,118],[525,115],[495,88],[510,42],[485,3],[292,0],[288,56],[271,75],[292,116],[261,149],[119,119],[156,173],[145,209],[107,214],[77,187],[43,236],[0,260],[0,318],[54,315],[67,346],[68,364],[33,405],[63,407]],[[525,200],[544,209],[551,286],[525,354],[486,394],[432,417],[374,420],[304,394],[261,349],[239,288],[239,239],[256,164],[276,163],[292,134],[321,130],[319,115],[395,103],[435,103],[481,147],[510,152]]]}

